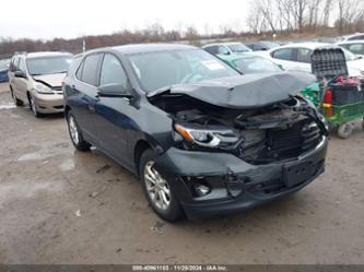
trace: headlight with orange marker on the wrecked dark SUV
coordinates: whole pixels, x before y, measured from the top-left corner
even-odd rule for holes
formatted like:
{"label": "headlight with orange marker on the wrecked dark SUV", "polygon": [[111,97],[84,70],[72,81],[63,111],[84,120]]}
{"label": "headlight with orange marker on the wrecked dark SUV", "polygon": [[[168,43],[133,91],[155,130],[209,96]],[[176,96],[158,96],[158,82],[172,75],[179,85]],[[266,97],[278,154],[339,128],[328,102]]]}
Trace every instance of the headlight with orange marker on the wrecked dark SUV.
{"label": "headlight with orange marker on the wrecked dark SUV", "polygon": [[242,135],[230,129],[196,129],[175,125],[175,130],[188,142],[210,149],[234,149],[242,141]]}

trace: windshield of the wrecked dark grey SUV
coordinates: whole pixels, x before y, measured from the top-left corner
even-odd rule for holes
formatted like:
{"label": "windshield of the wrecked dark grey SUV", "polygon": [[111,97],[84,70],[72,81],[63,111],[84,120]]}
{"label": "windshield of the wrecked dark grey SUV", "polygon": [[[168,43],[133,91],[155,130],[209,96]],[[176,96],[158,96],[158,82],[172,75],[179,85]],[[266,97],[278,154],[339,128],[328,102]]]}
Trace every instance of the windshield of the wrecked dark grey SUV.
{"label": "windshield of the wrecked dark grey SUV", "polygon": [[230,66],[200,49],[127,55],[141,87],[155,91],[174,84],[238,75]]}

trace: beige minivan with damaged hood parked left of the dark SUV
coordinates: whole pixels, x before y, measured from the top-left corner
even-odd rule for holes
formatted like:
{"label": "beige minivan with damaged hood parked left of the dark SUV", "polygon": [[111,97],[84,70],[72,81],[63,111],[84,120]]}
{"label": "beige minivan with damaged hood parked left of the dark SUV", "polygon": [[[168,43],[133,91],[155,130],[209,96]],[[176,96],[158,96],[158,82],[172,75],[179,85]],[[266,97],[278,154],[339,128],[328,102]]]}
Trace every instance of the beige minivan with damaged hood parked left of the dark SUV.
{"label": "beige minivan with damaged hood parked left of the dark SUV", "polygon": [[28,104],[36,117],[63,111],[62,81],[72,55],[19,52],[11,60],[9,84],[16,106]]}

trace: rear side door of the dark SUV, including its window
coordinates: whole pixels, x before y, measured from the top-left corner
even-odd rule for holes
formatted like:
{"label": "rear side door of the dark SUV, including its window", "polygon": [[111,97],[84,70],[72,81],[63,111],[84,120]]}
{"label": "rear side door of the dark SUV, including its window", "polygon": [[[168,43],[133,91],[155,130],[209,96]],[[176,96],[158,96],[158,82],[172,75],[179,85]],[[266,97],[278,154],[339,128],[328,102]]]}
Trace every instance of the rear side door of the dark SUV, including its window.
{"label": "rear side door of the dark SUV, including its window", "polygon": [[102,56],[101,52],[87,55],[79,67],[75,80],[70,86],[75,93],[70,100],[75,120],[82,130],[83,137],[92,143],[97,143],[94,117]]}

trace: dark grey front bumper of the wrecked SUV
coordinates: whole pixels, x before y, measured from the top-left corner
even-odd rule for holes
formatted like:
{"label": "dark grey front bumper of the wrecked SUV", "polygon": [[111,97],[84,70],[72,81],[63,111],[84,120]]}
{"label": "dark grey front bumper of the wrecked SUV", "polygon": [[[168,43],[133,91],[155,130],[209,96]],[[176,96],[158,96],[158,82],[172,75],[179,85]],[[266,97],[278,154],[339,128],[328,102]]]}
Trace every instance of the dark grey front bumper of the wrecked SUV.
{"label": "dark grey front bumper of the wrecked SUV", "polygon": [[[173,188],[189,218],[210,217],[250,209],[295,192],[325,170],[328,139],[296,159],[250,165],[226,153],[175,147],[161,155],[156,169]],[[292,170],[292,172],[291,172]],[[196,186],[210,188],[196,194]]]}

